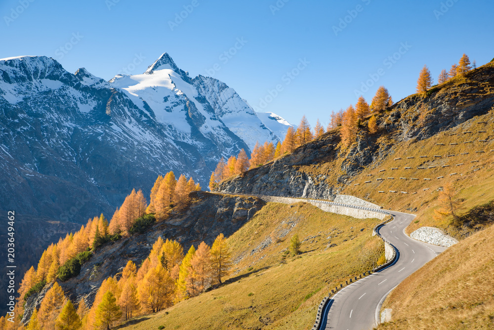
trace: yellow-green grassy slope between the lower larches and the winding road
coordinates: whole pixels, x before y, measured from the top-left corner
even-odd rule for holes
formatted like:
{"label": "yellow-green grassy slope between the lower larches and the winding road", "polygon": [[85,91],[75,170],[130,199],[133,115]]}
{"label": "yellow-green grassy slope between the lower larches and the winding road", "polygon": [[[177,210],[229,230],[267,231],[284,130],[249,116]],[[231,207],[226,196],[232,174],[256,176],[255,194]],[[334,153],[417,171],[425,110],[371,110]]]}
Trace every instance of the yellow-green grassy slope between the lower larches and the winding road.
{"label": "yellow-green grassy slope between the lower larches and the winding road", "polygon": [[[224,286],[125,329],[309,329],[328,288],[372,268],[384,253],[371,236],[376,223],[304,203],[268,203],[228,238],[236,264]],[[303,253],[292,257],[285,251],[295,233]],[[281,241],[266,245],[272,236]]]}

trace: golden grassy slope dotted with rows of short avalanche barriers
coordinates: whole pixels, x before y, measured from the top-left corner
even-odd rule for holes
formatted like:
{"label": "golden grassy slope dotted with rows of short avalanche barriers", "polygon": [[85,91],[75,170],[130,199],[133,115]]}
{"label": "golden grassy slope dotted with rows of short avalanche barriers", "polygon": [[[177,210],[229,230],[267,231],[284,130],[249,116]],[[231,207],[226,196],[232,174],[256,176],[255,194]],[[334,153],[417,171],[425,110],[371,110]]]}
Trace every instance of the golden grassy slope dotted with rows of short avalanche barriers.
{"label": "golden grassy slope dotted with rows of short avalanche barriers", "polygon": [[[367,199],[373,203],[389,207],[396,210],[412,210],[417,213],[418,223],[412,222],[407,229],[408,233],[421,226],[433,226],[446,230],[457,239],[462,239],[465,233],[471,228],[458,230],[450,225],[449,219],[436,221],[433,219],[433,209],[437,206],[437,197],[441,187],[448,181],[453,183],[458,192],[458,198],[465,200],[464,212],[475,206],[488,203],[494,200],[494,191],[491,187],[494,184],[493,157],[494,152],[494,123],[493,114],[476,117],[458,127],[439,133],[429,139],[422,141],[408,141],[393,147],[392,154],[382,160],[379,164],[373,164],[366,168],[360,175],[356,176],[352,183],[342,191],[342,194],[354,195]],[[489,121],[488,124],[477,124],[478,122]],[[478,133],[485,130],[486,133]],[[472,133],[463,134],[463,131]],[[456,133],[456,135],[450,135]],[[488,140],[480,142],[478,140]],[[474,141],[464,144],[465,141]],[[437,143],[444,143],[438,146]],[[458,145],[450,145],[458,143]],[[486,151],[476,153],[476,151]],[[461,153],[468,152],[468,155]],[[434,156],[442,156],[434,158]],[[448,157],[448,155],[454,155]],[[428,156],[420,158],[420,156]],[[414,157],[407,159],[407,157]],[[402,158],[395,161],[395,158]],[[479,163],[471,163],[478,160]],[[456,165],[461,164],[464,165]],[[449,167],[442,167],[450,165]],[[436,166],[429,168],[429,166]],[[398,169],[392,168],[398,167]],[[405,169],[405,167],[412,167]],[[417,169],[426,167],[426,169]],[[386,169],[384,172],[379,172]],[[457,173],[456,175],[450,175]],[[371,174],[371,176],[368,176]],[[437,177],[444,178],[437,179]],[[394,177],[394,179],[387,179]],[[406,180],[400,177],[407,178]],[[376,178],[384,178],[379,182]],[[411,180],[418,178],[418,180]],[[424,180],[430,178],[430,181]],[[365,181],[372,181],[365,183]],[[355,183],[360,185],[354,186]],[[430,188],[429,190],[423,190]],[[390,193],[390,190],[397,193]],[[384,191],[384,193],[379,193]],[[402,194],[405,191],[408,194]],[[417,193],[412,195],[412,193]]]}

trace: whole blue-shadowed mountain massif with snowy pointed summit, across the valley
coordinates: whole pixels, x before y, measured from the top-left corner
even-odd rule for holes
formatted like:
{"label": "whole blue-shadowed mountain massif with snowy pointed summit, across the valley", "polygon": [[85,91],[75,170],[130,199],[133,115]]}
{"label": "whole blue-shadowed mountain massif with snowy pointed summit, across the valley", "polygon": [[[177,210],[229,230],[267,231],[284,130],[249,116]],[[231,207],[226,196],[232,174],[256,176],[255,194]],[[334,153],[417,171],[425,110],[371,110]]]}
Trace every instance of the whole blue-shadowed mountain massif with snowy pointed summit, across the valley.
{"label": "whole blue-shadowed mountain massif with snowy pointed summit, across the valley", "polygon": [[[85,222],[111,216],[132,188],[147,194],[169,170],[206,186],[221,157],[283,139],[257,115],[234,89],[190,78],[166,53],[142,75],[110,82],[44,56],[1,59],[1,208],[22,201],[25,214]],[[71,210],[81,196],[88,201]]]}

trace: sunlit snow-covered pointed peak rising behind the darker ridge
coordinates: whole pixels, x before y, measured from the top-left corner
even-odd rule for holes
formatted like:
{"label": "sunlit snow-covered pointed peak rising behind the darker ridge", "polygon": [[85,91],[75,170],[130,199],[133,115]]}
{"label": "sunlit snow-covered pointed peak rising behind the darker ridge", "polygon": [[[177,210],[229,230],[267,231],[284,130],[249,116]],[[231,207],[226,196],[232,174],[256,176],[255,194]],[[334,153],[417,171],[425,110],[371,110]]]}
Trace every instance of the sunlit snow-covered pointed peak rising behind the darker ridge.
{"label": "sunlit snow-covered pointed peak rising behind the darker ridge", "polygon": [[214,78],[191,79],[167,53],[144,74],[118,75],[110,83],[143,111],[149,105],[158,122],[172,125],[184,138],[191,134],[191,125],[184,120],[187,112],[200,121],[196,124],[205,136],[224,134],[221,127],[226,125],[249,149],[256,141],[276,143],[284,136],[268,128],[233,88]]}

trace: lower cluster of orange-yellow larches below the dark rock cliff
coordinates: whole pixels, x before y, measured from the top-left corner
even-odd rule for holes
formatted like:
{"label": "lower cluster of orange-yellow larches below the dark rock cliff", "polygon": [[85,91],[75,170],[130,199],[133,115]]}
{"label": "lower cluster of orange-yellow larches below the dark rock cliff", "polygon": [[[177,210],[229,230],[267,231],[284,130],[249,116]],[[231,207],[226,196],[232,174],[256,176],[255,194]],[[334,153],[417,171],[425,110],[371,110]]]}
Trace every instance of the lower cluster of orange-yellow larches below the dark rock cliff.
{"label": "lower cluster of orange-yellow larches below the dark rock cliff", "polygon": [[[140,267],[128,260],[120,278],[116,275],[103,280],[90,307],[83,298],[74,305],[58,282],[53,281],[40,308],[32,313],[27,329],[113,329],[133,317],[158,312],[220,284],[231,265],[223,234],[216,238],[212,248],[202,242],[197,250],[191,246],[185,256],[178,242],[159,237]],[[26,291],[37,280],[32,267],[26,272],[19,292]]]}

